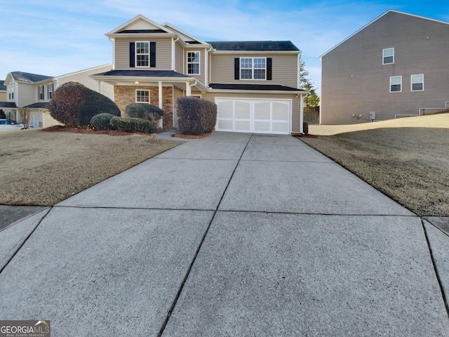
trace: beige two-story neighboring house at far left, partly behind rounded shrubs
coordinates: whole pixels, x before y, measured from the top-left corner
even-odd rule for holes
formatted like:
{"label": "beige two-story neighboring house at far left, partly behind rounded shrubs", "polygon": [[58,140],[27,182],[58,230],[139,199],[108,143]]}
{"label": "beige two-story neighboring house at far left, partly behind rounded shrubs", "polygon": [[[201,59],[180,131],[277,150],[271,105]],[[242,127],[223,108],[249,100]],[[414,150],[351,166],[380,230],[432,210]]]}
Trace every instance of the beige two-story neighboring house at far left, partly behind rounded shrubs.
{"label": "beige two-story neighboring house at far left, partly behind rounded shrubs", "polygon": [[102,84],[90,77],[101,71],[111,70],[112,65],[102,65],[79,72],[73,72],[58,77],[51,77],[28,72],[10,72],[6,75],[6,100],[0,102],[0,109],[4,110],[6,118],[19,123],[22,122],[19,108],[29,108],[29,126],[32,128],[46,128],[58,125],[58,121],[51,117],[48,103],[58,86],[68,81],[76,81],[95,91],[102,91],[104,95],[113,98],[112,86]]}

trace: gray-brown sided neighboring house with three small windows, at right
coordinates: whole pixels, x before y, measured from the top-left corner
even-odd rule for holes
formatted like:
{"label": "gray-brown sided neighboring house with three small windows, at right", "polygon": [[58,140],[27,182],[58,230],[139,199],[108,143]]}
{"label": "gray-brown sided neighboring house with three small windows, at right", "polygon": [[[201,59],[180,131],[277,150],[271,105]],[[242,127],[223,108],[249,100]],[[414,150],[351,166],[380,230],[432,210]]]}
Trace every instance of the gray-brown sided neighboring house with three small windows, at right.
{"label": "gray-brown sided neighboring house with three small windows, at right", "polygon": [[320,123],[444,110],[449,105],[448,55],[449,22],[387,11],[321,55]]}

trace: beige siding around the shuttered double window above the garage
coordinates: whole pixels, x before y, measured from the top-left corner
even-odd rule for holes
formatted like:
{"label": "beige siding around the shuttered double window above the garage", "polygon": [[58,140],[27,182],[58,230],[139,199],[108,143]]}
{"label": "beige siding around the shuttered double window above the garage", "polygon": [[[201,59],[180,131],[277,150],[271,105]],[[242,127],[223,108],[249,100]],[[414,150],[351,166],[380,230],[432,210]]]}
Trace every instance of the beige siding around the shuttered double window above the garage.
{"label": "beige siding around the shuttered double window above the garage", "polygon": [[[236,80],[234,79],[234,59],[272,58],[272,80]],[[210,83],[239,84],[283,84],[297,88],[297,54],[220,54],[211,56]]]}

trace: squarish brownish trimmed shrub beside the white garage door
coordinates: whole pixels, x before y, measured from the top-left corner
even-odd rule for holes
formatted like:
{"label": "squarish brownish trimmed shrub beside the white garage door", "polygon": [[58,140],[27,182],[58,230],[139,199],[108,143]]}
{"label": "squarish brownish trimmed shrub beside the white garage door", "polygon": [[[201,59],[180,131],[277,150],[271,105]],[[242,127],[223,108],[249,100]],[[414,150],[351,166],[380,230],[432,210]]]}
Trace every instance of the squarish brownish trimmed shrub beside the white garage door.
{"label": "squarish brownish trimmed shrub beside the white garage door", "polygon": [[217,105],[201,98],[178,98],[176,112],[178,128],[185,135],[212,132],[217,123]]}

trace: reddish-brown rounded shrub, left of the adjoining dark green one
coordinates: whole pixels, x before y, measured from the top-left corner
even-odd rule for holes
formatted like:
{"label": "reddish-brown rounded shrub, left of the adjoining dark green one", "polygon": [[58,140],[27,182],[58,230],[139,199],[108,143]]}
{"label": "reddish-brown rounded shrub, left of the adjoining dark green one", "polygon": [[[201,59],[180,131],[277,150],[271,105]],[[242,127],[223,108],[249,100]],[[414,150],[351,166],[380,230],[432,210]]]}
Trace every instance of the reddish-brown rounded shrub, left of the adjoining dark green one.
{"label": "reddish-brown rounded shrub, left of the adjoining dark green one", "polygon": [[86,91],[88,91],[86,86],[76,82],[62,84],[55,90],[48,105],[51,117],[66,126],[76,127],[78,107]]}

